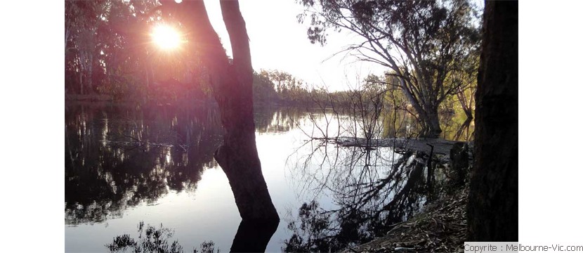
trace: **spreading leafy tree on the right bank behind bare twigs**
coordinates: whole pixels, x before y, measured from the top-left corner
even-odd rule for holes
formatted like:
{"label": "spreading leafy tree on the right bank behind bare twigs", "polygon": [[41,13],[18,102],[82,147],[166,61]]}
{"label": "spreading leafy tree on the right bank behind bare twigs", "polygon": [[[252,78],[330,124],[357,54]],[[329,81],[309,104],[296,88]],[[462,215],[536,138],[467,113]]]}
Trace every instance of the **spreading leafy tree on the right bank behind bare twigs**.
{"label": "spreading leafy tree on the right bank behind bare twigs", "polygon": [[387,67],[417,112],[422,136],[440,134],[440,103],[468,85],[461,73],[476,67],[466,63],[480,39],[469,1],[300,2],[306,11],[299,21],[310,20],[312,43],[325,44],[330,28],[358,34],[362,43],[348,46],[346,52]]}

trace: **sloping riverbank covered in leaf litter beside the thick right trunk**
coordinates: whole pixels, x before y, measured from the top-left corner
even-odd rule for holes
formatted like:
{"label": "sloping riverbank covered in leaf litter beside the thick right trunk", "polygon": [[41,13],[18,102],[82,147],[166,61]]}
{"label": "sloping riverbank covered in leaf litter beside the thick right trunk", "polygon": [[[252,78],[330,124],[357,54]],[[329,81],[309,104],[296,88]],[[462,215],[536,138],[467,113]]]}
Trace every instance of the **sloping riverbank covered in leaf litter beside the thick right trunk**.
{"label": "sloping riverbank covered in leaf litter beside the thick right trunk", "polygon": [[467,185],[455,190],[393,225],[384,237],[344,252],[464,252],[468,192]]}

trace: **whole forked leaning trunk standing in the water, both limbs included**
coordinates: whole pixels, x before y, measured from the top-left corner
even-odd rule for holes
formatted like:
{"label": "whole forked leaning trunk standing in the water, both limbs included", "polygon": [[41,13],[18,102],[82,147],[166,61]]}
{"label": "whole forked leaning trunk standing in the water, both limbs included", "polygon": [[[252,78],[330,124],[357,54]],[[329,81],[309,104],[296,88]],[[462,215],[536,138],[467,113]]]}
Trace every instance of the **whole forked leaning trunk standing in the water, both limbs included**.
{"label": "whole forked leaning trunk standing in the water, both limbs included", "polygon": [[202,52],[202,63],[210,73],[214,97],[221,110],[225,129],[215,160],[227,175],[235,203],[243,220],[279,221],[255,143],[253,115],[253,68],[249,37],[239,11],[239,2],[221,0],[223,22],[229,33],[232,63],[211,26],[203,1],[160,1],[166,11],[177,13],[188,27],[195,51]]}

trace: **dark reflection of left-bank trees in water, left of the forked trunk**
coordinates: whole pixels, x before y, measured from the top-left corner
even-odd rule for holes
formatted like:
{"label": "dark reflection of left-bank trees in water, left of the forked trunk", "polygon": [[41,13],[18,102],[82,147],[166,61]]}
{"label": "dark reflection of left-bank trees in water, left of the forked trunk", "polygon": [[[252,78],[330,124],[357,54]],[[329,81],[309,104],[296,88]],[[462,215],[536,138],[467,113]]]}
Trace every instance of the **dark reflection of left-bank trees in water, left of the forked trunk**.
{"label": "dark reflection of left-bank trees in water, left of the forked trunk", "polygon": [[169,190],[195,190],[216,166],[220,135],[208,108],[67,108],[65,224],[103,222]]}

